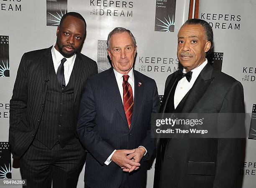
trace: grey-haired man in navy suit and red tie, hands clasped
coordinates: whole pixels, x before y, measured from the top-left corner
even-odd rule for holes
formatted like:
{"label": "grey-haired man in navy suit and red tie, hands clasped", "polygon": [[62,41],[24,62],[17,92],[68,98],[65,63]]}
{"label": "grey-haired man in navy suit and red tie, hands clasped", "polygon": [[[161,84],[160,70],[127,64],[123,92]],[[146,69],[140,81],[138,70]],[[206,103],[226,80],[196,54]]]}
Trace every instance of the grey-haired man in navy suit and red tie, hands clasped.
{"label": "grey-haired man in navy suit and red tie, hands clasped", "polygon": [[133,69],[136,40],[115,28],[108,35],[112,68],[87,80],[77,133],[88,150],[86,188],[145,188],[147,160],[156,148],[151,113],[159,108],[156,83]]}

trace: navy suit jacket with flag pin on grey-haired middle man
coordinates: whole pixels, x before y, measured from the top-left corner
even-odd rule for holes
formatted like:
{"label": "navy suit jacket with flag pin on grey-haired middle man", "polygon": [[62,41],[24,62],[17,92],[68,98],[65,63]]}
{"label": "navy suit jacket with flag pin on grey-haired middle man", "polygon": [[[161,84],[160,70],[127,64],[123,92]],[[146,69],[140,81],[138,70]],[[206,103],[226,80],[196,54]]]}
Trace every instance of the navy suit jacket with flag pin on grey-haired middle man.
{"label": "navy suit jacket with flag pin on grey-haired middle man", "polygon": [[146,187],[148,165],[145,160],[156,148],[156,140],[151,138],[151,113],[158,112],[159,98],[153,79],[136,70],[133,73],[135,89],[130,130],[113,68],[87,80],[77,133],[89,151],[84,173],[85,184],[89,187],[119,188],[125,173],[114,162],[104,163],[113,150],[133,149],[140,145],[148,153],[142,158],[140,168],[128,175],[128,183],[134,188]]}

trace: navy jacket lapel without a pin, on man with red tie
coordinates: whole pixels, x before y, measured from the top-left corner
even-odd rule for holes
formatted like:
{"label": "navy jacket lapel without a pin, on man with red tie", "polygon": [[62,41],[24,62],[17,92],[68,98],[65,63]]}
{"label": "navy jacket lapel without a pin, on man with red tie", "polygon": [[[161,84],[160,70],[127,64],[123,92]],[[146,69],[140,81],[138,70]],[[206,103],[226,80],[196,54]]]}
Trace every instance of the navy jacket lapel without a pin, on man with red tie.
{"label": "navy jacket lapel without a pin, on man with red tie", "polygon": [[128,128],[128,123],[127,123],[125,111],[123,108],[122,98],[121,98],[121,95],[120,95],[120,92],[118,89],[118,84],[116,82],[114,70],[111,67],[105,73],[106,73],[105,79],[103,80],[105,88],[106,88],[111,100],[113,101],[116,109],[118,110],[118,113],[120,113],[120,116],[122,117],[124,122],[127,124],[127,128]]}

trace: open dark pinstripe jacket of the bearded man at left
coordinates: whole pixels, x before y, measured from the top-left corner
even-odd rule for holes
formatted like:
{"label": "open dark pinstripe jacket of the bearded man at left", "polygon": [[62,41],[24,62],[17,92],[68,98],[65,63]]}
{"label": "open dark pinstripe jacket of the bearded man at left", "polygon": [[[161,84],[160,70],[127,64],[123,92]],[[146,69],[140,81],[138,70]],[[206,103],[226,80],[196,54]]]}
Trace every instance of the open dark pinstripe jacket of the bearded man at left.
{"label": "open dark pinstripe jacket of the bearded man at left", "polygon": [[[20,157],[31,144],[44,111],[49,66],[52,62],[51,48],[25,53],[20,61],[10,100],[9,142],[13,158]],[[79,104],[88,77],[97,73],[92,59],[77,53],[73,70],[75,75],[73,120],[76,133]]]}

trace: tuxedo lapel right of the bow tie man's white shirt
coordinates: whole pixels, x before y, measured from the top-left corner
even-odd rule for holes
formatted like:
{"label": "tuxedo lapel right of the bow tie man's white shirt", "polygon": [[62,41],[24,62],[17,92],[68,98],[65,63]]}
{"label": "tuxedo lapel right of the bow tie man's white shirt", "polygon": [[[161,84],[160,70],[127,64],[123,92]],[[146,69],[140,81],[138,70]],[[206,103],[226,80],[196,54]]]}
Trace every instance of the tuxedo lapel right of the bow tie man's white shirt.
{"label": "tuxedo lapel right of the bow tie man's white shirt", "polygon": [[193,87],[191,88],[187,100],[182,108],[182,113],[190,113],[192,108],[198,103],[214,78],[212,76],[212,66],[207,63],[201,73],[198,75]]}

